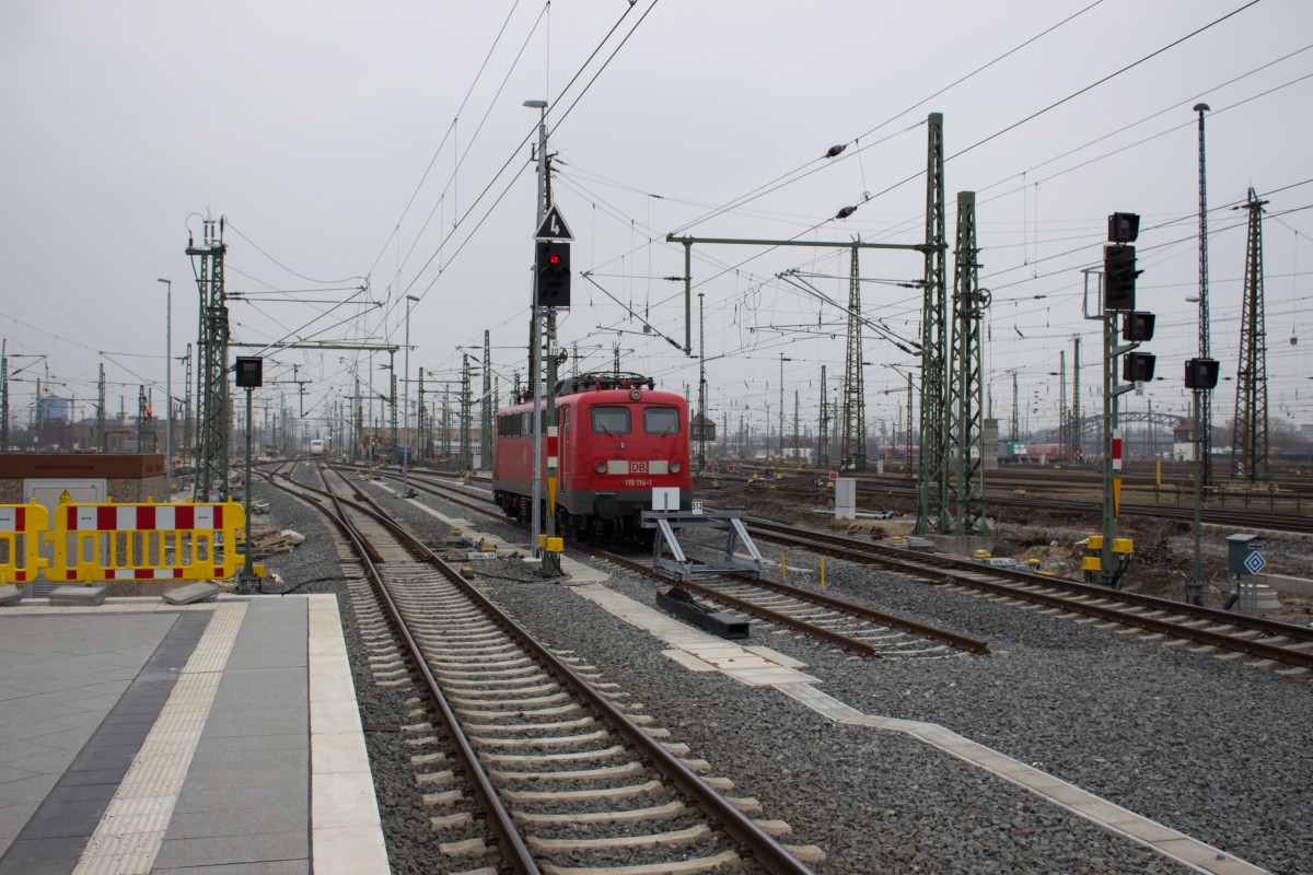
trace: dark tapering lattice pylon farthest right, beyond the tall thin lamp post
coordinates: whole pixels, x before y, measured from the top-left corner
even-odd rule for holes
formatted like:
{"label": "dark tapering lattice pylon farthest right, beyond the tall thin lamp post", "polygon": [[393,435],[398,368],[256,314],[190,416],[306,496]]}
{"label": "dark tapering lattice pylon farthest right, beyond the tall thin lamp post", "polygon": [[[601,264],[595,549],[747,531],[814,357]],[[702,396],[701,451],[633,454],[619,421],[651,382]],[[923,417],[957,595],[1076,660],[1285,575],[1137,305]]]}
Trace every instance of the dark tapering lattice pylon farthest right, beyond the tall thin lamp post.
{"label": "dark tapering lattice pylon farthest right, beyond the tall thin lamp post", "polygon": [[[1263,205],[1249,190],[1249,245],[1245,253],[1245,303],[1239,323],[1236,371],[1236,439],[1232,476],[1250,483],[1267,479],[1267,328],[1263,317]],[[1239,210],[1241,207],[1236,207]]]}

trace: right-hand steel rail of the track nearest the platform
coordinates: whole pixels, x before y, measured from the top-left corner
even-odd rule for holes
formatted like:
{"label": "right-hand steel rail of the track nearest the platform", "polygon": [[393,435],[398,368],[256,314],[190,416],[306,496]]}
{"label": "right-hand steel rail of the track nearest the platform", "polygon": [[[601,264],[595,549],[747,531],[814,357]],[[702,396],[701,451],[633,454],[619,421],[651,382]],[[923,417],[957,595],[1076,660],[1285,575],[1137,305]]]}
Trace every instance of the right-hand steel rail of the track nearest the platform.
{"label": "right-hand steel rail of the track nearest the platform", "polygon": [[[702,781],[693,770],[685,766],[679,757],[667,750],[660,743],[647,735],[642,727],[629,719],[629,716],[616,707],[605,695],[593,687],[587,680],[566,665],[550,649],[542,645],[523,626],[498,607],[483,593],[465,580],[441,556],[435,554],[428,544],[415,538],[399,521],[387,512],[378,508],[373,499],[365,501],[374,505],[383,518],[379,522],[386,525],[398,539],[414,544],[416,550],[427,556],[427,560],[444,569],[444,573],[456,584],[471,601],[482,607],[502,626],[509,635],[529,649],[538,660],[548,665],[558,677],[584,699],[612,728],[620,732],[653,767],[666,775],[676,787],[693,799],[697,805],[708,813],[725,832],[744,850],[744,855],[755,859],[772,875],[814,875],[801,861],[788,851],[781,844],[775,841],[763,830],[755,820],[744,815],[722,796],[710,784]],[[453,715],[454,718],[454,715]]]}

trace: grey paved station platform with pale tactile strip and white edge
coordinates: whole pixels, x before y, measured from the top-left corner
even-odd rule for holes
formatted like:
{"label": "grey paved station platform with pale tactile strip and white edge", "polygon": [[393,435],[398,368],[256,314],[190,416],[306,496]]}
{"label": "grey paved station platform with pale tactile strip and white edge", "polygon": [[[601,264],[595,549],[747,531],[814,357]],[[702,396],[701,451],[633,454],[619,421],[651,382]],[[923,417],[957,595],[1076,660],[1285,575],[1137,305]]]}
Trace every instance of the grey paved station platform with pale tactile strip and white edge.
{"label": "grey paved station platform with pale tactile strip and white edge", "polygon": [[336,598],[0,609],[0,875],[387,871]]}

